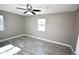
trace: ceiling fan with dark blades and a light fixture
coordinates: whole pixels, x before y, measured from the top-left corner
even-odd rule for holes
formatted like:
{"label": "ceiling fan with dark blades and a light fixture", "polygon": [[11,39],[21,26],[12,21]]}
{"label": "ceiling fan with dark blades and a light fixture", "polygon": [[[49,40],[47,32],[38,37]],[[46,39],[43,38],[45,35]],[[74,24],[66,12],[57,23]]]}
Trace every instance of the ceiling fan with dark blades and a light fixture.
{"label": "ceiling fan with dark blades and a light fixture", "polygon": [[26,14],[27,12],[31,12],[32,14],[36,15],[35,12],[41,12],[41,10],[33,9],[30,4],[25,5],[25,7],[26,7],[26,8],[16,7],[16,9],[25,10],[24,14]]}

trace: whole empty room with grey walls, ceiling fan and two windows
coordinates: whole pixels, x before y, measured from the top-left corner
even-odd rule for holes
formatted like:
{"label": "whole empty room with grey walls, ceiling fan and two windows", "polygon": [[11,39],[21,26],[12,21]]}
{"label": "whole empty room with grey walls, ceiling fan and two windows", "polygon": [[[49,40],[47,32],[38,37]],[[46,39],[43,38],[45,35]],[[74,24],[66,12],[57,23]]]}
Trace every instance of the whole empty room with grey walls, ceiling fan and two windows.
{"label": "whole empty room with grey walls, ceiling fan and two windows", "polygon": [[79,55],[78,4],[0,4],[0,55]]}

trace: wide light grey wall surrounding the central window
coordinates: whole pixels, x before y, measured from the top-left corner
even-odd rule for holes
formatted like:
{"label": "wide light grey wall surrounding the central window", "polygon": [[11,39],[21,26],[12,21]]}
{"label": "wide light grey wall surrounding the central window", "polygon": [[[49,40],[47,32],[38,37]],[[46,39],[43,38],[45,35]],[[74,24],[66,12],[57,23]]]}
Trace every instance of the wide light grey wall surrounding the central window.
{"label": "wide light grey wall surrounding the central window", "polygon": [[[40,18],[47,19],[46,32],[37,31],[37,20]],[[26,34],[73,46],[75,20],[75,12],[29,16],[26,17]]]}

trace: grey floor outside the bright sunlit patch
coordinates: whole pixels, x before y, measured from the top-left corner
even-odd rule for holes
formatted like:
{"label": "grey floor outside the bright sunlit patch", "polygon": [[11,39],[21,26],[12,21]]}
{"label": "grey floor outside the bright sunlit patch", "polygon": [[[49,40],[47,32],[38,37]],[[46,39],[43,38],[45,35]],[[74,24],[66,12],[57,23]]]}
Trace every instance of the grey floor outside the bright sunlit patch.
{"label": "grey floor outside the bright sunlit patch", "polygon": [[14,55],[71,55],[70,48],[31,37],[19,37],[7,41],[22,50]]}

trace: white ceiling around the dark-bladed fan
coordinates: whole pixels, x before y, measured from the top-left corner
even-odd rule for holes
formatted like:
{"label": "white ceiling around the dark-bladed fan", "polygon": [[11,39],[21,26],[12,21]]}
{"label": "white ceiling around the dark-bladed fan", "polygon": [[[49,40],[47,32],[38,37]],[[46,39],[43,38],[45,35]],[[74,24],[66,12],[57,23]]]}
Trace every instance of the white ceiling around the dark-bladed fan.
{"label": "white ceiling around the dark-bladed fan", "polygon": [[[33,9],[40,9],[41,12],[36,12],[36,14],[52,14],[61,12],[71,12],[78,9],[77,4],[31,4]],[[16,9],[16,7],[25,8],[25,4],[0,4],[0,10],[8,11],[18,15],[32,15],[30,12],[24,14],[24,10]]]}

